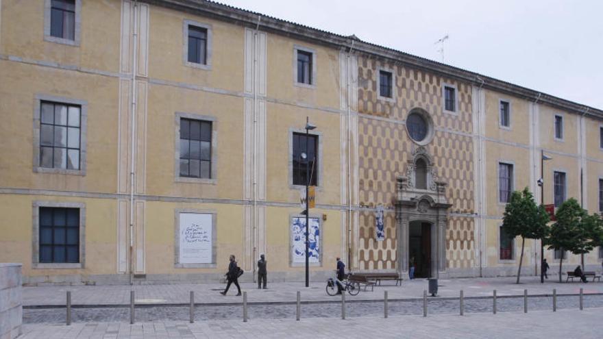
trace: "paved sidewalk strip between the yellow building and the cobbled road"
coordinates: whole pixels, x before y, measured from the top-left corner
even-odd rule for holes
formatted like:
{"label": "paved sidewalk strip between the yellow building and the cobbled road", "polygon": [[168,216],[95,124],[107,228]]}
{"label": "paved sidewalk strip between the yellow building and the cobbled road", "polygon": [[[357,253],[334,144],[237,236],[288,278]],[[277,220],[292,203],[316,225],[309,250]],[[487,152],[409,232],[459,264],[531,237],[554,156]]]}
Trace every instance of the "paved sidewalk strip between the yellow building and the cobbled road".
{"label": "paved sidewalk strip between the yellow building and the cobbled road", "polygon": [[[514,277],[508,278],[471,278],[471,279],[440,279],[439,296],[458,297],[463,290],[466,297],[491,296],[493,290],[497,295],[521,295],[524,289],[529,294],[551,294],[556,288],[558,294],[576,294],[580,288],[584,293],[603,293],[603,282],[574,282],[562,284],[551,277],[545,284],[540,284],[539,277],[521,277],[521,284],[515,284]],[[234,297],[235,290],[229,296],[223,297],[218,292],[224,284],[163,284],[163,285],[115,285],[115,286],[38,286],[23,288],[23,305],[64,305],[65,292],[71,290],[73,305],[116,305],[130,303],[130,290],[136,294],[138,304],[188,303],[189,292],[195,292],[197,303],[241,303],[240,297]],[[287,282],[269,284],[268,290],[258,290],[256,284],[243,283],[241,288],[247,291],[249,302],[283,302],[295,301],[296,291],[302,292],[304,301],[329,301],[325,293],[325,282],[314,281],[310,288],[305,288],[303,282]],[[387,290],[390,299],[421,298],[423,290],[428,289],[425,279],[403,281],[402,286],[393,286],[392,281],[384,281],[384,286],[376,286],[374,292],[362,291],[357,296],[347,296],[349,300],[380,300],[383,291]]]}

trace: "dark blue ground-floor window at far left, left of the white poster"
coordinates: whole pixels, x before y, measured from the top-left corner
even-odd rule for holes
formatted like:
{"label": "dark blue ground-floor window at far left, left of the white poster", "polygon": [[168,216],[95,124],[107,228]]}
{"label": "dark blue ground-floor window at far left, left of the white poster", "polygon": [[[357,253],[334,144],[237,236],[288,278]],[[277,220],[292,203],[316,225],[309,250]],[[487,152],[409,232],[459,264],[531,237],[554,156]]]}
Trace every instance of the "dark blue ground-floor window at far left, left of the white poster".
{"label": "dark blue ground-floor window at far left, left of the white poster", "polygon": [[40,207],[40,263],[79,262],[79,208]]}

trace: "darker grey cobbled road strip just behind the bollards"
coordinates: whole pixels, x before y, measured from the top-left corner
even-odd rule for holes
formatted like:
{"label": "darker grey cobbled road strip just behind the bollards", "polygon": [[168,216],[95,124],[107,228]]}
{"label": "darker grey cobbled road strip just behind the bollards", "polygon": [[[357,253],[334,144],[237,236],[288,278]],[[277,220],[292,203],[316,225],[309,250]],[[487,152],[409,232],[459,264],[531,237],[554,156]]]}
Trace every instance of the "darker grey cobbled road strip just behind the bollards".
{"label": "darker grey cobbled road strip just behind the bollards", "polygon": [[[579,298],[557,297],[557,309],[578,309]],[[584,307],[603,307],[603,295],[584,297]],[[524,299],[498,298],[497,312],[523,312]],[[552,312],[552,297],[528,298],[528,312],[535,310],[550,310]],[[139,307],[135,310],[136,322],[150,321],[187,321],[189,318],[188,307]],[[384,303],[382,301],[347,302],[346,315],[349,317],[382,316]],[[417,315],[423,314],[423,301],[389,301],[388,312],[390,315]],[[458,300],[442,300],[430,298],[428,300],[429,314],[458,314]],[[493,312],[492,299],[465,299],[465,313],[491,313]],[[302,318],[339,318],[341,317],[341,303],[312,303],[302,305]],[[249,305],[247,314],[250,319],[295,319],[296,307],[293,305]],[[195,321],[215,321],[243,317],[241,305],[212,305],[195,307]],[[130,321],[130,308],[127,307],[102,307],[102,308],[75,308],[71,311],[73,323],[84,322],[120,322]],[[54,309],[26,309],[23,310],[23,323],[55,323],[64,324],[66,310]]]}

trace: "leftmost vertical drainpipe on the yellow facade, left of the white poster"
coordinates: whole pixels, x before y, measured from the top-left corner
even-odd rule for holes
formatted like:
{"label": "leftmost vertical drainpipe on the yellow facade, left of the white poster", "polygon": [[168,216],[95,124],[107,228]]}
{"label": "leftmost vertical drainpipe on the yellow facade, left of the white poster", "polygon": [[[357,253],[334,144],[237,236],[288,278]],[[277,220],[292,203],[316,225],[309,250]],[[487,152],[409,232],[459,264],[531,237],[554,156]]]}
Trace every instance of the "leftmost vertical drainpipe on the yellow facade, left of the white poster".
{"label": "leftmost vertical drainpipe on the yellow facade, left of the white poster", "polygon": [[132,149],[130,150],[130,285],[134,284],[134,151],[136,142],[136,52],[137,52],[137,38],[136,25],[138,10],[138,3],[134,1],[134,27],[132,33],[132,136],[130,138],[130,144]]}

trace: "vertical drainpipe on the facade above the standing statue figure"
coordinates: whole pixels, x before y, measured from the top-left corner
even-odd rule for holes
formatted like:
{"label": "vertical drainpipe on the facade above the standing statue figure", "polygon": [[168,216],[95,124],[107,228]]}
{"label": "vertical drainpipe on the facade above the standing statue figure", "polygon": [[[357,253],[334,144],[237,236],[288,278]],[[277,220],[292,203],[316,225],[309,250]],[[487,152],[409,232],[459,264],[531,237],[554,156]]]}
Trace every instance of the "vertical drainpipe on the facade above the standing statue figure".
{"label": "vertical drainpipe on the facade above the standing statue figure", "polygon": [[253,228],[251,240],[254,244],[254,249],[251,254],[251,271],[254,282],[256,282],[256,257],[258,247],[256,247],[256,241],[258,236],[258,29],[260,29],[260,20],[262,16],[258,15],[258,23],[256,25],[256,32],[254,32],[254,213],[253,213]]}

